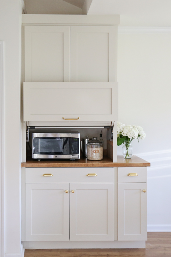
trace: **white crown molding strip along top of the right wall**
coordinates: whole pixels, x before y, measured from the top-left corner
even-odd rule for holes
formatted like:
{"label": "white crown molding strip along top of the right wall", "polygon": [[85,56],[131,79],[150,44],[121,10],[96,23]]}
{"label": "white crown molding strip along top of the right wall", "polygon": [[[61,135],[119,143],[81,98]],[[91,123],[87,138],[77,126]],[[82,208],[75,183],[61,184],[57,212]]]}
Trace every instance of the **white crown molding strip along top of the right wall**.
{"label": "white crown molding strip along top of the right wall", "polygon": [[118,34],[169,34],[171,27],[118,27]]}

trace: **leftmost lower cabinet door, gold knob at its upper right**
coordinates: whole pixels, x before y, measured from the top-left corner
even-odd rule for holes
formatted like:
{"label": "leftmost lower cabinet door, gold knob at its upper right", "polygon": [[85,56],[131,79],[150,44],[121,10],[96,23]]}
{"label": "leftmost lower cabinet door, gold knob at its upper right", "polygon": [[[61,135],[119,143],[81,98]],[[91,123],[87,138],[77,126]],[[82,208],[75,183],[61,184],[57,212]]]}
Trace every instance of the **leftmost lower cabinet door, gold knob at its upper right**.
{"label": "leftmost lower cabinet door, gold knob at its upper right", "polygon": [[69,188],[70,184],[26,184],[26,241],[69,240]]}

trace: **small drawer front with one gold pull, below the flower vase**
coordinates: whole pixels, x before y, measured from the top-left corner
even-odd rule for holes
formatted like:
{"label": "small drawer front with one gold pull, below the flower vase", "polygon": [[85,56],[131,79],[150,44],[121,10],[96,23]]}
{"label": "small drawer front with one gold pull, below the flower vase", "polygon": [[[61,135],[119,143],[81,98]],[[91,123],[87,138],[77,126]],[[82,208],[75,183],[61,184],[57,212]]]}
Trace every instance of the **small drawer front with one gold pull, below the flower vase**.
{"label": "small drawer front with one gold pull, below the flower vase", "polygon": [[[136,173],[138,176],[128,176],[130,173]],[[147,168],[146,167],[119,167],[118,183],[146,183]]]}

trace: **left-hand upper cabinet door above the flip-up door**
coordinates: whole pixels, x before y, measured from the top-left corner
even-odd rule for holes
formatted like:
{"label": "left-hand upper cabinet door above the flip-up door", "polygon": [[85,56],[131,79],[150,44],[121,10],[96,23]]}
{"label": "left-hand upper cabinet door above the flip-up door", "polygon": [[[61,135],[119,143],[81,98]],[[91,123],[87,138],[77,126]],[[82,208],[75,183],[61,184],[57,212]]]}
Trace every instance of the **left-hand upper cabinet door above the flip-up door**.
{"label": "left-hand upper cabinet door above the flip-up door", "polygon": [[69,26],[25,26],[25,81],[70,81]]}

